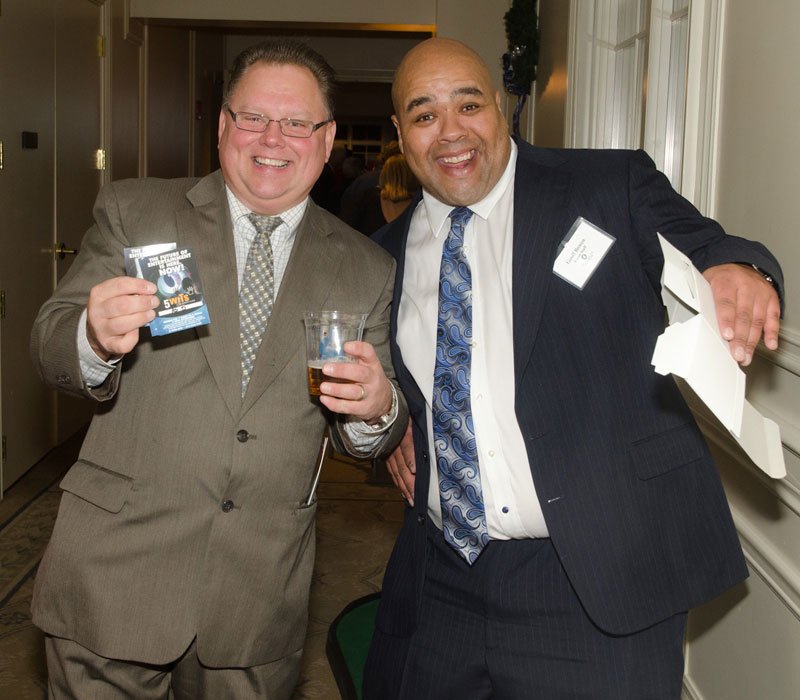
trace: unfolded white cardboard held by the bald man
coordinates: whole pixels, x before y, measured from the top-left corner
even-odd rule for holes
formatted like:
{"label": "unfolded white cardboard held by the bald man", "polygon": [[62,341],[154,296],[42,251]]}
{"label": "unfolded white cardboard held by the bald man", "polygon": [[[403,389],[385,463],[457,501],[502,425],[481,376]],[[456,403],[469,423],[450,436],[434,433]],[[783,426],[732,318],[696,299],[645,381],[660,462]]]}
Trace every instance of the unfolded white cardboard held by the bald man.
{"label": "unfolded white cardboard held by the bald man", "polygon": [[745,399],[745,373],[719,333],[711,286],[691,260],[659,234],[664,253],[661,297],[669,326],[659,336],[653,365],[681,377],[769,476],[786,476],[780,431]]}

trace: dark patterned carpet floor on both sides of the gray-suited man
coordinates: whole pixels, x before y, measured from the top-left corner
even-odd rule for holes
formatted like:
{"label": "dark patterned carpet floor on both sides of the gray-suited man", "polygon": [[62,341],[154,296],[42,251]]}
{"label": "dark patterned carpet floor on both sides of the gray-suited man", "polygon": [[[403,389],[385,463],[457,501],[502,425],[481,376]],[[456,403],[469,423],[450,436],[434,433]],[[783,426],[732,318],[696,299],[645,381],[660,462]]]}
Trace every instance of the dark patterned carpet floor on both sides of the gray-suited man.
{"label": "dark patterned carpet floor on both sides of the gray-suited man", "polygon": [[[31,624],[30,598],[58,510],[58,482],[82,437],[53,450],[0,501],[0,698],[46,697],[42,634]],[[328,458],[319,486],[310,624],[293,700],[339,698],[325,656],[328,627],[350,601],[380,589],[402,513],[397,490],[371,464]]]}

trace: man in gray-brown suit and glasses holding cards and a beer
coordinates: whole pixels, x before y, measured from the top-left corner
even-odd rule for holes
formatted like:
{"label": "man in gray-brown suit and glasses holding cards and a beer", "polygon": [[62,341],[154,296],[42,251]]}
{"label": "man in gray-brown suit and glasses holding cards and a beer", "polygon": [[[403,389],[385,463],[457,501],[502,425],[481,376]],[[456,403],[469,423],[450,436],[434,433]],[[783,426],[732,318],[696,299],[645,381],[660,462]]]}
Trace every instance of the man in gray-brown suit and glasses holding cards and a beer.
{"label": "man in gray-brown suit and glasses holding cards and a beer", "polygon": [[[97,402],[36,580],[50,697],[292,692],[323,432],[372,457],[407,421],[388,378],[394,262],[308,198],[333,146],[332,85],[302,44],[243,52],[219,118],[221,172],[104,188],[81,255],[42,307],[32,352],[43,379]],[[266,241],[251,215],[280,217]],[[245,368],[240,288],[256,240],[273,259],[274,304]],[[155,285],[125,276],[123,249],[169,242],[193,251],[211,323],[150,337],[140,329]],[[357,361],[325,368],[346,381],[324,382],[320,405],[301,319],[322,308],[367,320],[364,342],[348,346]]]}

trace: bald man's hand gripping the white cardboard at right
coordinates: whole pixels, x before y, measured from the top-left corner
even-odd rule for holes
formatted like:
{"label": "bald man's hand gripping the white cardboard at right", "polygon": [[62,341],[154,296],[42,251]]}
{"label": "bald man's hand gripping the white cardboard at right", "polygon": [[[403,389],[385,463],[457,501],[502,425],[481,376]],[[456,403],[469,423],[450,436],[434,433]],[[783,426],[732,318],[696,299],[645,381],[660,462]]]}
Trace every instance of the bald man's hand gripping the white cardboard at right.
{"label": "bald man's hand gripping the white cardboard at right", "polygon": [[762,334],[768,348],[778,347],[780,300],[769,282],[752,268],[733,263],[711,267],[703,276],[714,295],[720,333],[737,362],[750,364]]}

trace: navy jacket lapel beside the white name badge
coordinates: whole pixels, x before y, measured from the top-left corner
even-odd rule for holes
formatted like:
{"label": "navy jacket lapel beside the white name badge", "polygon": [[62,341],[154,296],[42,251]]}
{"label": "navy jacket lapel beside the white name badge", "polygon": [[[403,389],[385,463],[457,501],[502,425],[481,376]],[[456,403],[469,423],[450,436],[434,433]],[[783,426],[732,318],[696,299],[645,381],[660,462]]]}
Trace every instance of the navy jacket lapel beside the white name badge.
{"label": "navy jacket lapel beside the white name badge", "polygon": [[514,182],[514,378],[517,386],[530,359],[558,245],[569,230],[569,174],[536,162],[536,151],[519,144]]}

